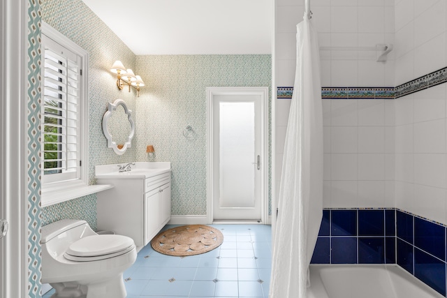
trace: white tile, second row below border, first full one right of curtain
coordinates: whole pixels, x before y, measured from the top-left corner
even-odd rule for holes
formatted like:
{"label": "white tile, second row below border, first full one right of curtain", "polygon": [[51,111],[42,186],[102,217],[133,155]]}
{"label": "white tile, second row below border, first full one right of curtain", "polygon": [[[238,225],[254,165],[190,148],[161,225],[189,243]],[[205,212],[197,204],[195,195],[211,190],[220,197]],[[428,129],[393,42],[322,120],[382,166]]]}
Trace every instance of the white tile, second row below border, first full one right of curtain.
{"label": "white tile, second row below border, first full one right of curtain", "polygon": [[332,153],[357,153],[357,128],[354,126],[332,126],[330,131]]}

